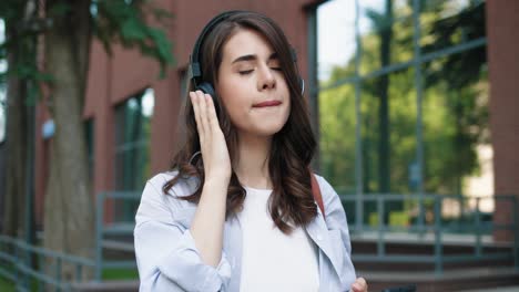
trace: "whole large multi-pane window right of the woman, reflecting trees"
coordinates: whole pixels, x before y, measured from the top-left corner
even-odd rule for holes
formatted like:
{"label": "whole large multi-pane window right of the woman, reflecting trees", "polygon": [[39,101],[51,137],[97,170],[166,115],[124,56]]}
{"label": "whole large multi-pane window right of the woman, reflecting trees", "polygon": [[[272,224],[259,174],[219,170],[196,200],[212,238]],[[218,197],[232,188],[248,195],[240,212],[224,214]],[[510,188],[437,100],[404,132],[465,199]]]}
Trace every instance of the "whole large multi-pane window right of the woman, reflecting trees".
{"label": "whole large multi-pane window right of the woman, reflecting trees", "polygon": [[[335,0],[316,12],[319,166],[337,191],[492,195],[485,1]],[[376,225],[375,202],[363,206]],[[389,222],[418,210],[416,199],[385,208]]]}

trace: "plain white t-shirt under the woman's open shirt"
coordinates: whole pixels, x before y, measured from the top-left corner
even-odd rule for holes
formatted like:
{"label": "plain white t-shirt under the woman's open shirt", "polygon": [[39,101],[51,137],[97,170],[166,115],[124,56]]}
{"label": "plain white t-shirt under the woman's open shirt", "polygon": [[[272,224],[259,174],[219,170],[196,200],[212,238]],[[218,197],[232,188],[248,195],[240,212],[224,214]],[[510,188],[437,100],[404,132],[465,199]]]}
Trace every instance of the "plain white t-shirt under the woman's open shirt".
{"label": "plain white t-shirt under the woman's open shirt", "polygon": [[317,247],[304,228],[286,236],[268,211],[269,189],[245,187],[238,219],[243,232],[241,292],[308,291],[319,288]]}

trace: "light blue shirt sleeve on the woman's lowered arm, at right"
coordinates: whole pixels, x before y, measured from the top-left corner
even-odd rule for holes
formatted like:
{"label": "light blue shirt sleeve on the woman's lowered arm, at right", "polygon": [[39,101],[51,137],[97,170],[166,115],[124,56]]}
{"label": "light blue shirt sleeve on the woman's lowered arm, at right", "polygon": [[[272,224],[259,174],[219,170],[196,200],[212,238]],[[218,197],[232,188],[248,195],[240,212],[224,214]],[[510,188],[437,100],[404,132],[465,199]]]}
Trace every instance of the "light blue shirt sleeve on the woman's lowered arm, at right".
{"label": "light blue shirt sleeve on the woman's lowered arm, at right", "polygon": [[352,262],[352,243],[346,212],[344,211],[340,197],[323,177],[320,177],[319,186],[323,194],[328,233],[332,240],[334,240],[335,252],[342,259],[342,272],[339,273],[342,289],[347,291],[350,289],[352,283],[355,282],[356,275]]}

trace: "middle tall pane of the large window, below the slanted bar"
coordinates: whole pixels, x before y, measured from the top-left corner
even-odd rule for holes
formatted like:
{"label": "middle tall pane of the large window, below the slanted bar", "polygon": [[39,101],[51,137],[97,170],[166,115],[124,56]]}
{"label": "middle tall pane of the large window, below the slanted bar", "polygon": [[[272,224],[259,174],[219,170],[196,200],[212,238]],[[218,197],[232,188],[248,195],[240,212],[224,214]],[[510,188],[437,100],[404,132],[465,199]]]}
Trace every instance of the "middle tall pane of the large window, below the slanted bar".
{"label": "middle tall pane of the large window, below the slanted bar", "polygon": [[413,69],[365,80],[362,87],[363,190],[409,194],[416,161],[416,92]]}

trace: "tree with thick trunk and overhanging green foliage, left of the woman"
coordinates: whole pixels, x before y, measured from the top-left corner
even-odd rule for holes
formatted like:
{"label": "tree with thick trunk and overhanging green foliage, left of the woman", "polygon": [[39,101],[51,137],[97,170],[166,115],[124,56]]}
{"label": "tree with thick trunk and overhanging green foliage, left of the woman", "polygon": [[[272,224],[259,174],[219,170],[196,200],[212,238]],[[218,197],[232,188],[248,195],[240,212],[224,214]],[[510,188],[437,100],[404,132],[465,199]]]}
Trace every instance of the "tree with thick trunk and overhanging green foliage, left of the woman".
{"label": "tree with thick trunk and overhanging green foliage, left of the woman", "polygon": [[[0,11],[19,15],[28,7],[18,2],[3,0]],[[26,2],[42,13],[33,13],[21,23],[14,17],[12,25],[23,28],[18,36],[44,35],[44,74],[37,66],[29,71],[30,76],[44,76],[49,91],[47,102],[55,123],[44,201],[43,246],[92,258],[95,212],[81,116],[91,40],[96,36],[109,53],[113,43],[136,48],[160,62],[163,75],[165,66],[173,62],[171,43],[162,29],[147,24],[146,18],[165,20],[170,14],[145,0],[47,0],[43,7],[37,6],[39,1]],[[14,39],[9,38],[2,44],[8,54],[17,50],[12,43]],[[16,67],[17,62],[10,63],[9,74],[16,74],[12,70]],[[8,131],[8,139],[11,135]],[[63,280],[71,277],[71,270],[62,275]]]}

